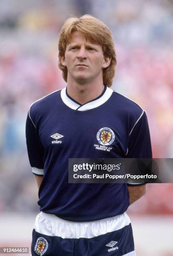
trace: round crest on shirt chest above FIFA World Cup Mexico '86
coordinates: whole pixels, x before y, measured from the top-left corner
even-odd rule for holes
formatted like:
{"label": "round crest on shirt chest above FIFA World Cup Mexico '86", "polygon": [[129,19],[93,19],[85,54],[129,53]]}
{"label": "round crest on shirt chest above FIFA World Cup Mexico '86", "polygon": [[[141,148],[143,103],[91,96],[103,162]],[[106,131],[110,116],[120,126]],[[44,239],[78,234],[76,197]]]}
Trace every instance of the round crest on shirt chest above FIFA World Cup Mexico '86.
{"label": "round crest on shirt chest above FIFA World Cup Mexico '86", "polygon": [[101,145],[110,145],[115,140],[115,134],[110,128],[104,127],[98,131],[97,140]]}

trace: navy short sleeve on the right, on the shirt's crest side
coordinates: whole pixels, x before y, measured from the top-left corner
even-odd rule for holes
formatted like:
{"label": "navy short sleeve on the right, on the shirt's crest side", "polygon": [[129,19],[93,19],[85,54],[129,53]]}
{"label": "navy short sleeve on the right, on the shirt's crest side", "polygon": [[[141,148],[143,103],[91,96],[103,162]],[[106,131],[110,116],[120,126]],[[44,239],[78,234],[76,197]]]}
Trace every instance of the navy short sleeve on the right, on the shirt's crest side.
{"label": "navy short sleeve on the right, on the shirt's crest side", "polygon": [[[130,131],[128,153],[126,158],[152,158],[150,131],[145,111]],[[145,183],[128,183],[129,185],[143,185]]]}

